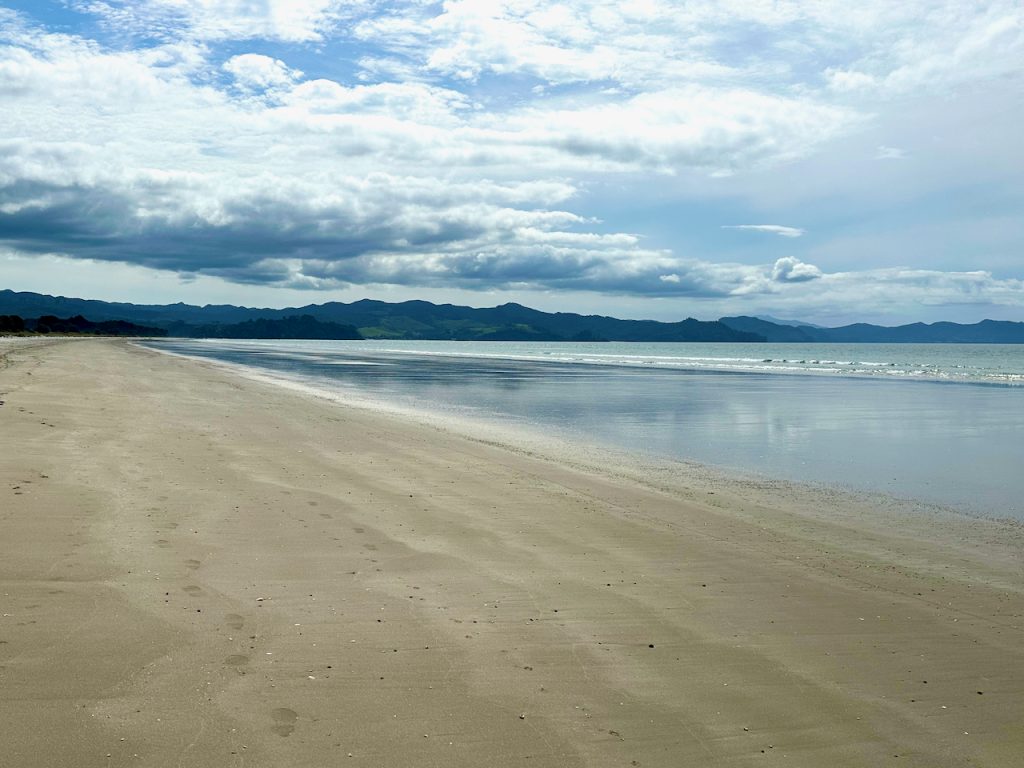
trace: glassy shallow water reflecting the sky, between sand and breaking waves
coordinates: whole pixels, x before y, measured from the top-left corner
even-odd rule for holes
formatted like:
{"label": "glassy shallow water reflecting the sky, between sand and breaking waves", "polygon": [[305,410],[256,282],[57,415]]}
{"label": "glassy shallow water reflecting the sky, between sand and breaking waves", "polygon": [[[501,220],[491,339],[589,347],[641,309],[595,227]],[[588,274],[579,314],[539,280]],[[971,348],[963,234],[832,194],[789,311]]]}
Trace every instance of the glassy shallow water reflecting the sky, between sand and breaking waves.
{"label": "glassy shallow water reflecting the sky, between sand and breaking waves", "polygon": [[1017,389],[164,342],[187,354],[769,476],[1024,518]]}

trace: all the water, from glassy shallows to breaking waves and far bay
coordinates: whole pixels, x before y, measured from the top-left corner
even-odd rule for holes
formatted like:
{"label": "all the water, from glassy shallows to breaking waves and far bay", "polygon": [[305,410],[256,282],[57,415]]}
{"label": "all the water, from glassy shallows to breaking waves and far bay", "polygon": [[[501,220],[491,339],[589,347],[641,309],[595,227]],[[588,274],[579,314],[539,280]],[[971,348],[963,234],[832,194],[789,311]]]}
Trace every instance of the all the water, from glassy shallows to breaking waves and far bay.
{"label": "all the water, from glassy shallows to breaking waves and far bay", "polygon": [[152,345],[407,408],[1024,519],[1024,345]]}

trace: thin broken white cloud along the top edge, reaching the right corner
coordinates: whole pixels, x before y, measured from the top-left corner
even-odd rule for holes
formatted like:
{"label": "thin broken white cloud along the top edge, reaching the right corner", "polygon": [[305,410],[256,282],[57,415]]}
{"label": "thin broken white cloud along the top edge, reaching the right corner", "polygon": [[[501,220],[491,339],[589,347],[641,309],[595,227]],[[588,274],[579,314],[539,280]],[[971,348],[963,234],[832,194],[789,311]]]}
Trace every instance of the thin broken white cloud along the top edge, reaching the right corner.
{"label": "thin broken white cloud along the top edge, reaching the right corner", "polygon": [[768,81],[806,90],[823,77],[835,93],[890,95],[1010,75],[1024,52],[1024,10],[1013,0],[407,0],[387,9],[353,26],[381,48],[375,68],[390,59],[464,81],[515,75],[633,91]]}

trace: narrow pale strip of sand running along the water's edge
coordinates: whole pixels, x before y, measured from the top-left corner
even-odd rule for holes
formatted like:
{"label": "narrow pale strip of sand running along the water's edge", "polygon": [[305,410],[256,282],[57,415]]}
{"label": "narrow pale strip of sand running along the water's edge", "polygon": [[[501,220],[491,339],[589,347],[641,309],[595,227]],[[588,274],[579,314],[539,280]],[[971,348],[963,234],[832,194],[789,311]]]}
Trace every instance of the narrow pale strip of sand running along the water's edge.
{"label": "narrow pale strip of sand running along the water's edge", "polygon": [[[911,541],[930,542],[951,557],[973,558],[976,565],[993,558],[1007,567],[1024,562],[1024,521],[1014,517],[972,513],[882,492],[788,480],[737,468],[640,454],[596,441],[570,440],[564,435],[545,434],[535,426],[499,423],[465,413],[430,411],[359,391],[331,390],[317,386],[315,382],[303,382],[244,364],[191,356],[157,347],[142,348],[332,407],[398,419],[442,435],[497,447],[586,475],[634,484],[645,490],[669,494],[691,502],[710,502],[715,509],[727,510],[748,522],[761,524],[758,513],[751,514],[751,510],[766,507],[775,524],[784,519],[791,529],[804,522],[819,524],[821,528],[817,534],[821,538],[816,543],[821,547],[835,546],[835,540],[828,539],[826,534],[835,527],[843,532],[850,529],[869,532],[874,538],[874,546],[886,548],[887,557],[893,562],[901,556],[899,545]],[[709,500],[710,496],[718,498]],[[763,509],[760,514],[764,514]],[[951,567],[949,562],[943,562],[934,572],[948,578]],[[966,574],[961,575],[970,579]]]}

